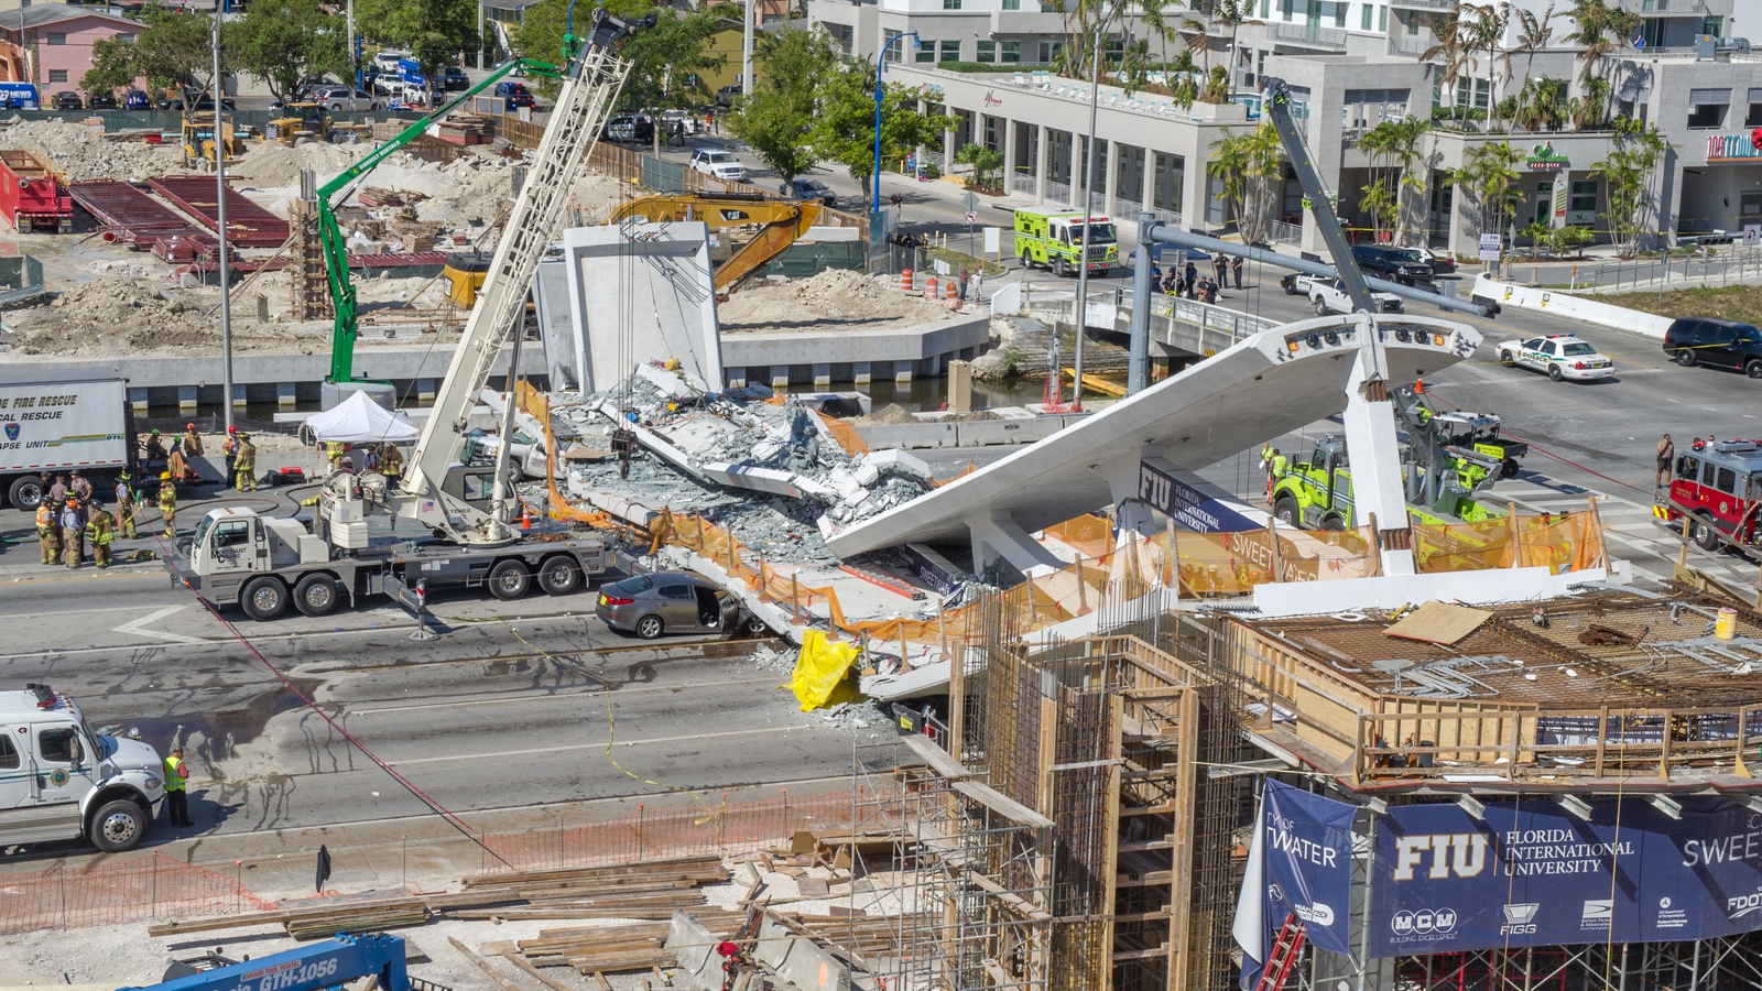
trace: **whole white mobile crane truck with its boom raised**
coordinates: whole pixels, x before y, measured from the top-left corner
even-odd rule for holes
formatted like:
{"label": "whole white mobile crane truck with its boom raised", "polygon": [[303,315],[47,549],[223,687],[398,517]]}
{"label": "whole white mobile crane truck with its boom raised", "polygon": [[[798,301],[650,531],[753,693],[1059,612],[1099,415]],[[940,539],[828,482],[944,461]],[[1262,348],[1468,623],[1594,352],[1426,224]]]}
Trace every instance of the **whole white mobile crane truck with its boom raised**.
{"label": "whole white mobile crane truck with its boom raised", "polygon": [[[585,39],[564,35],[562,93],[402,487],[389,492],[377,473],[331,473],[310,531],[296,518],[261,517],[245,508],[210,510],[196,534],[166,559],[174,582],[215,605],[238,603],[252,619],[275,619],[289,601],[307,615],[324,615],[342,596],[354,601],[402,594],[419,582],[488,585],[497,598],[515,600],[536,578],[546,592],[560,596],[578,589],[583,575],[606,568],[606,548],[596,538],[532,540],[509,525],[509,444],[499,446],[490,511],[472,504],[481,492],[453,490],[449,478],[460,478],[453,469],[465,450],[469,413],[509,332],[520,326],[527,291],[562,220],[574,173],[631,71],[617,44],[654,21],[654,14],[626,21],[597,9]],[[375,540],[368,533],[374,510],[395,517],[393,527],[396,520],[412,520],[430,536]]]}

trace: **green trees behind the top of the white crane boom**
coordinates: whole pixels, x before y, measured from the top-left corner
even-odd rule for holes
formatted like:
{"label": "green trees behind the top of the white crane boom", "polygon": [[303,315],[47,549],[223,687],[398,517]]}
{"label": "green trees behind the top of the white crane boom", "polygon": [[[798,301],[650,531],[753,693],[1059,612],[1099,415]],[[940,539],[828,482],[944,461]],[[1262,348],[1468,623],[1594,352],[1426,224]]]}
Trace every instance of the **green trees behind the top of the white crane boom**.
{"label": "green trees behind the top of the white crane boom", "polygon": [[[402,2],[402,0],[374,0]],[[643,0],[613,0],[606,11],[618,18],[643,18],[659,14],[650,28],[631,35],[620,53],[631,60],[631,74],[624,79],[618,93],[620,109],[664,109],[691,108],[701,102],[703,72],[721,69],[728,58],[708,53],[710,35],[726,28],[729,21],[722,16],[726,7],[696,9],[680,12],[671,7],[654,7]],[[520,30],[515,32],[515,51],[522,58],[534,62],[557,62],[562,58],[562,35],[567,25],[569,0],[543,0],[527,7]],[[576,5],[574,32],[585,34],[594,16],[594,7]],[[738,18],[738,14],[735,14]],[[740,26],[740,21],[731,21]],[[560,88],[555,79],[539,79],[537,90],[555,95]]]}

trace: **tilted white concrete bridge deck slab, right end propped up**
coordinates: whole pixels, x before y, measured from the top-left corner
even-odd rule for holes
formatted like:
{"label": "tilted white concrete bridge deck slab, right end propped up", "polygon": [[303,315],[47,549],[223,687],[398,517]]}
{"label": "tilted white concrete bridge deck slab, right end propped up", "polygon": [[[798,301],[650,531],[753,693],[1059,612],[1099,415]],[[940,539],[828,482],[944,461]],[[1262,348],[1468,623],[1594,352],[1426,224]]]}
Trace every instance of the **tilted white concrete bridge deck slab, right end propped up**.
{"label": "tilted white concrete bridge deck slab, right end propped up", "polygon": [[1161,457],[1198,471],[1344,411],[1346,376],[1359,358],[1360,333],[1369,328],[1381,335],[1390,383],[1455,365],[1480,344],[1480,333],[1464,324],[1413,316],[1374,323],[1362,314],[1329,316],[1263,330],[826,543],[849,557],[907,541],[969,538],[974,566],[999,555],[1020,570],[1054,564],[1027,534],[1136,499],[1142,458]]}

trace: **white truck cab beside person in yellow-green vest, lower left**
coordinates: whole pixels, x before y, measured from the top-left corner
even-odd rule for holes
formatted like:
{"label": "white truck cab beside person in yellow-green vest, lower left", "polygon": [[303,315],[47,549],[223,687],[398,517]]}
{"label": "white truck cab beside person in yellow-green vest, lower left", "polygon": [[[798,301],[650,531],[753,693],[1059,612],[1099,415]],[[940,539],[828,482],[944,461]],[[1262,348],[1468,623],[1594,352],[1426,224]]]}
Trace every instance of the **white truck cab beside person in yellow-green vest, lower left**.
{"label": "white truck cab beside person in yellow-green vest, lower left", "polygon": [[159,751],[136,737],[93,734],[46,684],[0,691],[0,846],[86,838],[118,853],[141,843],[166,783]]}

